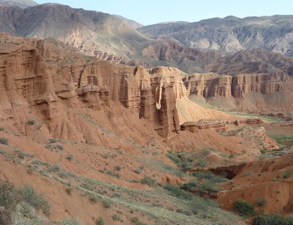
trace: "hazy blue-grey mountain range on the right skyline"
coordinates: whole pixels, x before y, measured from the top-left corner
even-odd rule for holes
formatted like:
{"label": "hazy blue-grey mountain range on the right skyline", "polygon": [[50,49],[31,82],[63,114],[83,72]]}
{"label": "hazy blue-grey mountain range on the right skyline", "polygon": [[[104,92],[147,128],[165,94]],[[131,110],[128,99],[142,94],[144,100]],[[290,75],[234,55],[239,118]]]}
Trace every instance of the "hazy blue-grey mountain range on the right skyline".
{"label": "hazy blue-grey mountain range on the right skyline", "polygon": [[212,18],[192,23],[169,22],[137,29],[152,39],[176,40],[204,51],[265,48],[293,56],[293,16]]}

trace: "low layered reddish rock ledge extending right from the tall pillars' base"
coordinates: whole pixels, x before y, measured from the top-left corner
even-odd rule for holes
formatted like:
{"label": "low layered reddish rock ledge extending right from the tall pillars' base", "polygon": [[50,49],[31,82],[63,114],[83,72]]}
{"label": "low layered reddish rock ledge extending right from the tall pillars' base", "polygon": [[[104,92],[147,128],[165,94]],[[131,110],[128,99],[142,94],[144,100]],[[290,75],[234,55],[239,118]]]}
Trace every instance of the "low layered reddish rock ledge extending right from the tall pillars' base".
{"label": "low layered reddish rock ledge extending right from the tall pillars' base", "polygon": [[229,128],[226,126],[227,124],[261,124],[264,123],[263,120],[259,118],[249,118],[249,119],[237,119],[237,120],[207,120],[203,119],[195,122],[186,122],[180,125],[181,130],[188,130],[194,132],[197,129],[208,129],[215,132],[226,132]]}

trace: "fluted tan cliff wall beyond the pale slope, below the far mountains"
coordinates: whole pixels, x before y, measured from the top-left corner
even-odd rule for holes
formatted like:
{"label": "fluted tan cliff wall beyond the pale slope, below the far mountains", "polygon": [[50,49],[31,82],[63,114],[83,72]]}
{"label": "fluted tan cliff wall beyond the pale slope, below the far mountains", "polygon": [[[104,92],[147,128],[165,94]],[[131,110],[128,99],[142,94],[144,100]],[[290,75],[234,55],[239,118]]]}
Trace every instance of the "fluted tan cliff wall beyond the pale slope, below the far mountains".
{"label": "fluted tan cliff wall beyond the pale slope, below the far mountains", "polygon": [[285,90],[282,82],[286,82],[287,74],[239,74],[235,76],[219,75],[215,73],[191,74],[183,81],[189,95],[205,98],[222,96],[244,98],[245,94],[253,91],[269,95],[273,92]]}

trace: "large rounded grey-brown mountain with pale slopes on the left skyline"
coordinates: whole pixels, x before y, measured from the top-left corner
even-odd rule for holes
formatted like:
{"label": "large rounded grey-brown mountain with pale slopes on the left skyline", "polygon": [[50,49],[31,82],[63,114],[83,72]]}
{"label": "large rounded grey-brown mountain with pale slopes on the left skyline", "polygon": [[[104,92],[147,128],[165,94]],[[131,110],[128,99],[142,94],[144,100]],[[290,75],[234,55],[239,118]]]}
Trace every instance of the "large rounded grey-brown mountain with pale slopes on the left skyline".
{"label": "large rounded grey-brown mountain with pale slopes on the left skyline", "polygon": [[103,51],[130,57],[152,42],[115,16],[57,3],[26,9],[0,6],[0,31],[25,38],[52,37],[92,56]]}

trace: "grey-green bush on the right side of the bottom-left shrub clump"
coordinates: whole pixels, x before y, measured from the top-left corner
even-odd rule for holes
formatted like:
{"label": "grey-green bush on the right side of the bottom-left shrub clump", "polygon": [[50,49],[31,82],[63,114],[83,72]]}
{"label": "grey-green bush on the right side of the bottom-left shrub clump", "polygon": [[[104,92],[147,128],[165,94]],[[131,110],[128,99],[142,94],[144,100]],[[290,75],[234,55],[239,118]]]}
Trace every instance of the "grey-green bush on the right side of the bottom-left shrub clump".
{"label": "grey-green bush on the right side of the bottom-left shrub clump", "polygon": [[50,205],[48,201],[41,193],[37,193],[32,186],[21,185],[18,189],[18,193],[25,203],[33,206],[37,211],[42,212],[46,216],[50,214]]}

